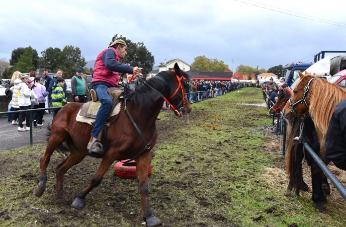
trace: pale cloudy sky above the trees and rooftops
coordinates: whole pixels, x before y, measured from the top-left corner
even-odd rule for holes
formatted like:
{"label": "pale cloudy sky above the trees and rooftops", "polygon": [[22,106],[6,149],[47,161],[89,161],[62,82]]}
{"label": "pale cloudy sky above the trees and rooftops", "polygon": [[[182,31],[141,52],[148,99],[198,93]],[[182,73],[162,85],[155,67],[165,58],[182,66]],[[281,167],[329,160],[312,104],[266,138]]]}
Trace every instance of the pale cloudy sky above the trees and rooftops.
{"label": "pale cloudy sky above the trees and rooftops", "polygon": [[[4,0],[0,58],[31,46],[79,47],[94,60],[111,38],[143,42],[155,66],[197,56],[268,69],[312,61],[322,50],[346,50],[340,0]],[[234,64],[232,64],[234,60]]]}

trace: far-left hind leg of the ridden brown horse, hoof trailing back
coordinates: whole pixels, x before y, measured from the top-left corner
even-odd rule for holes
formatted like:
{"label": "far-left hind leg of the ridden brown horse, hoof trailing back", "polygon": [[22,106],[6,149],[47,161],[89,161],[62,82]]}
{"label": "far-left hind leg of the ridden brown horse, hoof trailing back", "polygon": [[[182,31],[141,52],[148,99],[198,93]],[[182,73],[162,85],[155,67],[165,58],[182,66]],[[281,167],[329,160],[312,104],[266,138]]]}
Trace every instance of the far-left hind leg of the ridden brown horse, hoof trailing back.
{"label": "far-left hind leg of the ridden brown horse, hoof trailing back", "polygon": [[55,151],[55,149],[65,140],[66,135],[54,135],[49,139],[46,151],[40,159],[40,176],[38,177],[38,184],[34,188],[35,196],[42,196],[44,191],[46,190],[46,182],[47,182],[47,166],[50,161],[50,157]]}

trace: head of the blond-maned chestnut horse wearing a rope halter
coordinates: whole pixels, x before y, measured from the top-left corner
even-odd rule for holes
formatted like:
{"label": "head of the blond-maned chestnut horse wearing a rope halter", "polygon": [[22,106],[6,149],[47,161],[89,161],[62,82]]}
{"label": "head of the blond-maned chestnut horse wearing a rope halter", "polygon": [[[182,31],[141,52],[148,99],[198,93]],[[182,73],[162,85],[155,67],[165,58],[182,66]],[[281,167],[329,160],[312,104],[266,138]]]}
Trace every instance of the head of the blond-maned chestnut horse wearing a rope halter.
{"label": "head of the blond-maned chestnut horse wearing a rope halter", "polygon": [[305,75],[299,72],[299,82],[293,87],[293,94],[283,108],[283,117],[291,121],[294,117],[304,118],[309,112],[307,95],[311,82],[315,79],[309,73]]}

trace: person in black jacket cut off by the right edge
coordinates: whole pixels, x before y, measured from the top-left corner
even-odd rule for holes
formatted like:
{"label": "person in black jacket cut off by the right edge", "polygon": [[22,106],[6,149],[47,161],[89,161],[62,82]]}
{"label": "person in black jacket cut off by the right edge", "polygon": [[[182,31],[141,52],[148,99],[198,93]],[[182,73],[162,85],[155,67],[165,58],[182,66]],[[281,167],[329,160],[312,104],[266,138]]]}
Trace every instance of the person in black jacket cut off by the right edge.
{"label": "person in black jacket cut off by the right edge", "polygon": [[326,135],[326,158],[346,170],[346,99],[334,110]]}

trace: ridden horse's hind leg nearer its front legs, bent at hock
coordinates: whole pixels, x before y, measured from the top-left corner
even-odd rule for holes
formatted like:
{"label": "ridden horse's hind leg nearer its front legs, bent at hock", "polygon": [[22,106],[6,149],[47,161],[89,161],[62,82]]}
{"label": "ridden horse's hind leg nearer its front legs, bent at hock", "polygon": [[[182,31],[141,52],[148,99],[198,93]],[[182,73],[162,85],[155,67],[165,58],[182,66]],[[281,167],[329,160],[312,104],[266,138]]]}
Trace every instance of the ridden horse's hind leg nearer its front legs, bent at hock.
{"label": "ridden horse's hind leg nearer its front legs, bent at hock", "polygon": [[71,151],[70,155],[60,163],[60,166],[57,166],[56,168],[56,197],[61,198],[64,194],[64,175],[65,173],[74,165],[78,164],[83,160],[83,158],[86,156],[86,154],[82,154],[81,152]]}

